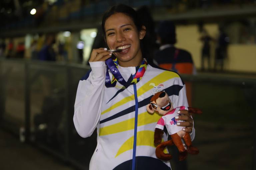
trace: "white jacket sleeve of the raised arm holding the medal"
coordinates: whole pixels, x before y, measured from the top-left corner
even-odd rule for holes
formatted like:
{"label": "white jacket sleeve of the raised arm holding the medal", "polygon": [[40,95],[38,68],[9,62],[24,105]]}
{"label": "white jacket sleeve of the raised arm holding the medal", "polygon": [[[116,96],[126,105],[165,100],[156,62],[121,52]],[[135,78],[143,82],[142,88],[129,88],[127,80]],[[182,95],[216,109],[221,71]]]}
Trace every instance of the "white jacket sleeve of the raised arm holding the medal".
{"label": "white jacket sleeve of the raised arm holding the medal", "polygon": [[90,62],[92,71],[86,80],[80,80],[74,106],[74,125],[81,137],[90,136],[96,128],[102,108],[106,64]]}

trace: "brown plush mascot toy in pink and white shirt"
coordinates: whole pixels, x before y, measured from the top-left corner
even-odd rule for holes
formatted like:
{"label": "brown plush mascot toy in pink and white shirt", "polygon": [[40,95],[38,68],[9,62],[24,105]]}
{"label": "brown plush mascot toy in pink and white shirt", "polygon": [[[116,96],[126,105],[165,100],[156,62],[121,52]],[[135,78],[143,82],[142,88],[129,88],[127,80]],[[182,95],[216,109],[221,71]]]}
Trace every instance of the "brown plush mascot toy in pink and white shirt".
{"label": "brown plush mascot toy in pink and white shirt", "polygon": [[[177,111],[179,110],[189,110],[192,113],[201,114],[201,110],[196,108],[188,108],[185,106],[173,108],[171,100],[166,92],[160,91],[156,93],[150,100],[150,104],[147,106],[147,111],[151,114],[158,112],[163,115],[157,122],[154,134],[154,143],[158,145],[156,147],[156,156],[162,160],[170,160],[172,155],[169,153],[164,153],[164,148],[175,144],[179,150],[179,160],[184,160],[189,154],[198,154],[199,150],[192,146],[191,138],[189,133],[182,130],[184,127],[177,126],[177,121],[175,116],[179,116]],[[162,142],[162,135],[164,133],[163,129],[166,126],[168,133],[171,135],[171,140]],[[185,145],[183,145],[181,138],[183,138]]]}

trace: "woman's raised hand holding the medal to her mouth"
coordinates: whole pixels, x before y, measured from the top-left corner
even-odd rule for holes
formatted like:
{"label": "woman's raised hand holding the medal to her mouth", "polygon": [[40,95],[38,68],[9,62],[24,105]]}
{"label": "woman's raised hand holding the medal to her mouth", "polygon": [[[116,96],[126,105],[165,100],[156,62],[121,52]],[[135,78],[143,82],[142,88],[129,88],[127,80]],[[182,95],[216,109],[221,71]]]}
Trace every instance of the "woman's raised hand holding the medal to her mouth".
{"label": "woman's raised hand holding the medal to her mouth", "polygon": [[112,53],[113,52],[108,52],[107,48],[93,49],[89,62],[106,61],[108,58],[111,57]]}

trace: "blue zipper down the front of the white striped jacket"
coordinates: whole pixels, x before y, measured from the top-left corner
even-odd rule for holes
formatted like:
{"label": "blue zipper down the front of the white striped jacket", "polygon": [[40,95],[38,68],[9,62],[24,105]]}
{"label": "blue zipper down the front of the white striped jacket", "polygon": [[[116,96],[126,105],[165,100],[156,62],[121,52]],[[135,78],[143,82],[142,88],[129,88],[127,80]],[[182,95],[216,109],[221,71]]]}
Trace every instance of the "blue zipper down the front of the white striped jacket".
{"label": "blue zipper down the front of the white striped jacket", "polygon": [[136,145],[137,145],[137,124],[138,124],[138,98],[136,84],[133,85],[135,98],[135,121],[134,121],[134,139],[133,139],[133,153],[132,153],[132,170],[136,168]]}

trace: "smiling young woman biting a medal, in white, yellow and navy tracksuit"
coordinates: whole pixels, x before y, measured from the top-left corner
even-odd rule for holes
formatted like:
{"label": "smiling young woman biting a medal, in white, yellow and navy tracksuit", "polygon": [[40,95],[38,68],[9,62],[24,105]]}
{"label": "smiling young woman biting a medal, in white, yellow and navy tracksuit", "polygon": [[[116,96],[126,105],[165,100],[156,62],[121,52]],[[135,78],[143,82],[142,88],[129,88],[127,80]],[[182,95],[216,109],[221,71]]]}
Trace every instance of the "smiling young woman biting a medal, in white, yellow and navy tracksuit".
{"label": "smiling young woman biting a medal, in white, yellow and navy tracksuit", "polygon": [[[98,133],[90,169],[168,170],[169,161],[155,155],[154,130],[160,115],[149,114],[146,106],[159,90],[169,94],[174,108],[188,106],[185,85],[177,73],[154,68],[143,59],[140,41],[146,28],[131,7],[111,7],[103,16],[102,29],[109,49],[122,51],[114,52],[115,67],[109,65],[113,53],[107,48],[93,49],[91,71],[78,85],[75,128],[82,137],[90,136],[96,127]],[[193,140],[193,120],[188,111],[182,114],[178,120],[185,122],[179,126]]]}

